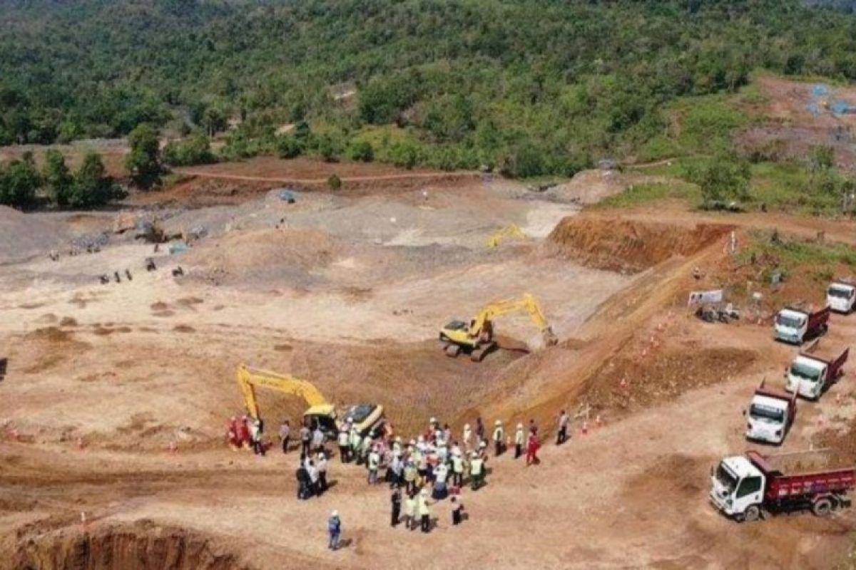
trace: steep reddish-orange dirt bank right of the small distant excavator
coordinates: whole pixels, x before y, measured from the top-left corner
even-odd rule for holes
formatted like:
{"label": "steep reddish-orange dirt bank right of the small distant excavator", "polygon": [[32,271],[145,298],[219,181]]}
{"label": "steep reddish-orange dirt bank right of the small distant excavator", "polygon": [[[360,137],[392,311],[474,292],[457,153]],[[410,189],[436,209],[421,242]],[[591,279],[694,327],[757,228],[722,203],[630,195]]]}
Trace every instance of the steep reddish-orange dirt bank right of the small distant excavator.
{"label": "steep reddish-orange dirt bank right of the small distant excavator", "polygon": [[547,256],[587,267],[639,273],[671,256],[688,256],[722,238],[731,226],[671,224],[574,216],[562,220],[544,244]]}

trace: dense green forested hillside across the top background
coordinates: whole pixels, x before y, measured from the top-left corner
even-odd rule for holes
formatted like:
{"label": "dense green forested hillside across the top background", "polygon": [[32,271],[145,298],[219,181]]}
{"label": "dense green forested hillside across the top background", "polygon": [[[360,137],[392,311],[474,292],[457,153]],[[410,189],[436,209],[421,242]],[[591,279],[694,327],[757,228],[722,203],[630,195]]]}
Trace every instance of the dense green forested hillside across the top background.
{"label": "dense green forested hillside across the top background", "polygon": [[799,0],[0,0],[0,144],[234,118],[231,156],[312,144],[571,173],[656,138],[663,103],[756,68],[856,79],[856,16]]}

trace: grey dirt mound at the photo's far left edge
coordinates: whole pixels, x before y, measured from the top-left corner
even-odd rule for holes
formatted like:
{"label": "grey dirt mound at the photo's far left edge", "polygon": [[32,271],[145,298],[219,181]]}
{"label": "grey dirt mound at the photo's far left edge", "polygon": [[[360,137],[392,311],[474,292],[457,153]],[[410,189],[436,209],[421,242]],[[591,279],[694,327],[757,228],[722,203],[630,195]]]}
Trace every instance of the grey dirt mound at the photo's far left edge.
{"label": "grey dirt mound at the photo's far left edge", "polygon": [[47,254],[68,238],[62,223],[45,214],[0,206],[0,263]]}

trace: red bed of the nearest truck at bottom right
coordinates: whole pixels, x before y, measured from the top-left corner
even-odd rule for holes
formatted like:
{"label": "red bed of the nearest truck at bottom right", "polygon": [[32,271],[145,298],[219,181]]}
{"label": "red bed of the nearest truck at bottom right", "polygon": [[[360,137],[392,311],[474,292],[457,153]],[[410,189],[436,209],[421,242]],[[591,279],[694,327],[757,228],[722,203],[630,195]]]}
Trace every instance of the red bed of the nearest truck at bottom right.
{"label": "red bed of the nearest truck at bottom right", "polygon": [[767,477],[765,498],[771,502],[825,493],[841,493],[856,487],[856,467],[821,469],[787,475],[773,467],[768,458],[757,451],[747,451],[746,456]]}

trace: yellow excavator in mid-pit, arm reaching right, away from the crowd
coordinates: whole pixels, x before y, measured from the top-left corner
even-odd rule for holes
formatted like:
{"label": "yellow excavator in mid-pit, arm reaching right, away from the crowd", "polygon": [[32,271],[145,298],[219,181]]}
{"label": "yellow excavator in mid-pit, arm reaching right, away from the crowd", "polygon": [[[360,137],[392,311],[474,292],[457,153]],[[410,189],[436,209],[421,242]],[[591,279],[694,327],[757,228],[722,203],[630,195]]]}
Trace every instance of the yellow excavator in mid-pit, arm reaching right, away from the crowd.
{"label": "yellow excavator in mid-pit, arm reaching right, away from the crowd", "polygon": [[440,331],[443,351],[446,356],[452,358],[460,355],[461,351],[465,351],[469,353],[470,360],[473,362],[482,361],[484,355],[496,346],[496,341],[493,339],[493,319],[516,311],[526,311],[529,314],[532,322],[541,330],[546,346],[553,346],[558,342],[538,301],[526,293],[520,299],[496,301],[486,305],[473,320],[470,320],[469,325],[462,320],[451,321]]}

